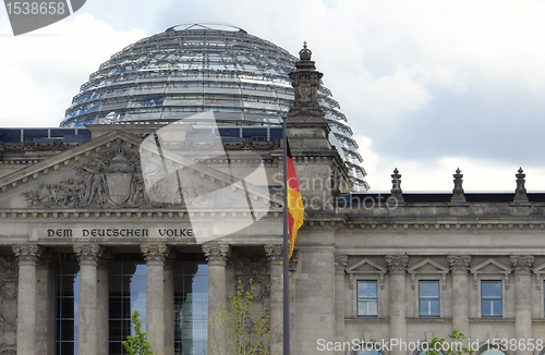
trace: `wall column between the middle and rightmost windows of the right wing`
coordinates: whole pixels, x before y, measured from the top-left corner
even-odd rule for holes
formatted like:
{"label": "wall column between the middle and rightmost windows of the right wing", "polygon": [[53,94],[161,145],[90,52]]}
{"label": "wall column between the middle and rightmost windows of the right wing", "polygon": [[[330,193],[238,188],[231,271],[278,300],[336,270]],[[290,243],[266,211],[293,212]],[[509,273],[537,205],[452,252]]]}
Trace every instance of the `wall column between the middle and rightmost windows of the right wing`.
{"label": "wall column between the middle and rightmost windows of the right wing", "polygon": [[452,272],[452,329],[470,338],[468,270],[470,255],[449,255],[447,257]]}

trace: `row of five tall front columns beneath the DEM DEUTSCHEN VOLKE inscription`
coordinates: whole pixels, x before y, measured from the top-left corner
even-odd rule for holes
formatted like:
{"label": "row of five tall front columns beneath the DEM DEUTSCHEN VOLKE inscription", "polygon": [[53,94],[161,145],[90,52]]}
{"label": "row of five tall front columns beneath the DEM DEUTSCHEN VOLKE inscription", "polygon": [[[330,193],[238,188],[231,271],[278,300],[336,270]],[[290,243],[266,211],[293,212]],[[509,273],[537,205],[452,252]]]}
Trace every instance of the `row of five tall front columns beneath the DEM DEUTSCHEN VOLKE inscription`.
{"label": "row of five tall front columns beneath the DEM DEUTSCHEN VOLKE inscription", "polygon": [[[53,355],[55,269],[53,253],[35,244],[12,247],[19,259],[17,354]],[[108,267],[112,253],[98,244],[77,244],[73,252],[80,262],[78,354],[108,355]],[[146,260],[146,332],[152,351],[174,353],[173,260],[175,252],[165,244],[141,245]],[[208,261],[208,325],[219,319],[226,294],[227,244],[203,245]],[[270,327],[272,352],[281,353],[282,333],[282,245],[265,246],[270,261]],[[44,276],[44,278],[40,278]],[[44,282],[46,284],[44,284]],[[225,347],[221,329],[216,328],[209,346]]]}

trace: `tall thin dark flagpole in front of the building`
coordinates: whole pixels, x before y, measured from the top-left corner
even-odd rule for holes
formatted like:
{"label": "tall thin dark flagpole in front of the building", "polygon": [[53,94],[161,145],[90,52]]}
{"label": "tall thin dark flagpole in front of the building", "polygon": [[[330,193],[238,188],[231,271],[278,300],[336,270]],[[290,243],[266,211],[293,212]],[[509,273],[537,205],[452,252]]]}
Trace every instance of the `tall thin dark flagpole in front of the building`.
{"label": "tall thin dark flagpole in front of the building", "polygon": [[283,132],[283,355],[290,355],[290,237],[288,230],[288,135],[287,119],[282,118]]}

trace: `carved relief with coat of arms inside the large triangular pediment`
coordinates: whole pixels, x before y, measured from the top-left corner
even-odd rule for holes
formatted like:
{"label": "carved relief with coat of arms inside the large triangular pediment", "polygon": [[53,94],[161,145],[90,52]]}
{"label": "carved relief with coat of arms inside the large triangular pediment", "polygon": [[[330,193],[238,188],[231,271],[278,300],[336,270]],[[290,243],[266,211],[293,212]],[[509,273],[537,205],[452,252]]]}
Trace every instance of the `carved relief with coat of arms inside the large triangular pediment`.
{"label": "carved relief with coat of arms inside the large triangular pediment", "polygon": [[22,195],[28,207],[130,207],[148,201],[137,154],[122,147],[75,168],[77,176]]}

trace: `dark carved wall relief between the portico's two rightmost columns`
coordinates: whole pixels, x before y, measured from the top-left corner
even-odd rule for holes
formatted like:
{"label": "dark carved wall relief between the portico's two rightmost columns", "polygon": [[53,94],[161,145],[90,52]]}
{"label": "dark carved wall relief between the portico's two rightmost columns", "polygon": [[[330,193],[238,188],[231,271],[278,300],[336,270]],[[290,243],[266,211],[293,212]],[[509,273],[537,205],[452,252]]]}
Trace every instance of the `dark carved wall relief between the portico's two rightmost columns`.
{"label": "dark carved wall relief between the portico's two rightmost columns", "polygon": [[[265,257],[239,257],[234,267],[237,283],[244,291],[255,287],[253,296],[263,299],[270,296],[270,262]],[[250,284],[252,280],[252,285]]]}

